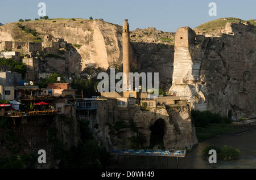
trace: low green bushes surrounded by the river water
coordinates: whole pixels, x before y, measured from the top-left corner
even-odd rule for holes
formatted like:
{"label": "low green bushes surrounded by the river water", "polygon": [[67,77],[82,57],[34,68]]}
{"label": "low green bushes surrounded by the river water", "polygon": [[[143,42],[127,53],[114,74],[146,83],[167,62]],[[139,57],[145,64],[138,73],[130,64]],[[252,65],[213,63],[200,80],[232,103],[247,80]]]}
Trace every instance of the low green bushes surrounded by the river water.
{"label": "low green bushes surrounded by the river water", "polygon": [[217,158],[224,161],[236,160],[241,155],[239,149],[235,149],[228,145],[224,145],[222,148],[217,147],[216,145],[208,145],[203,150],[203,157],[209,157],[208,152],[210,149],[214,149],[217,152]]}

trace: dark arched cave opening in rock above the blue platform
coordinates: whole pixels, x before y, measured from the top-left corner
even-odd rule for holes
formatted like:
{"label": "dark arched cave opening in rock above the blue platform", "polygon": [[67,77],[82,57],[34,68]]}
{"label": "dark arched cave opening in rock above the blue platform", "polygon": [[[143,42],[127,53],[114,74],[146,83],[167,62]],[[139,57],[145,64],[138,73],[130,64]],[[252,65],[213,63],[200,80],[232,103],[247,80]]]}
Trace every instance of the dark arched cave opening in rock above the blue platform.
{"label": "dark arched cave opening in rock above the blue platform", "polygon": [[154,125],[150,126],[150,148],[154,147],[155,145],[160,145],[163,147],[163,136],[164,136],[164,129],[166,127],[166,122],[164,119],[159,118],[154,122]]}

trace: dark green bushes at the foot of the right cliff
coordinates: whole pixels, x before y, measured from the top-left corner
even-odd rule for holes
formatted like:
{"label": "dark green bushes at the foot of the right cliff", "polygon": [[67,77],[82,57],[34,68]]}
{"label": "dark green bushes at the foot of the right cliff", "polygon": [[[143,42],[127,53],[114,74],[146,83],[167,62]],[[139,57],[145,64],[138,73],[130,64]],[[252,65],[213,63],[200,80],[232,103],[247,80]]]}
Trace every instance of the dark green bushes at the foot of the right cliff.
{"label": "dark green bushes at the foot of the right cliff", "polygon": [[200,112],[199,110],[191,110],[192,122],[197,127],[206,127],[209,124],[231,123],[232,120],[222,117],[219,113],[212,113],[209,110]]}

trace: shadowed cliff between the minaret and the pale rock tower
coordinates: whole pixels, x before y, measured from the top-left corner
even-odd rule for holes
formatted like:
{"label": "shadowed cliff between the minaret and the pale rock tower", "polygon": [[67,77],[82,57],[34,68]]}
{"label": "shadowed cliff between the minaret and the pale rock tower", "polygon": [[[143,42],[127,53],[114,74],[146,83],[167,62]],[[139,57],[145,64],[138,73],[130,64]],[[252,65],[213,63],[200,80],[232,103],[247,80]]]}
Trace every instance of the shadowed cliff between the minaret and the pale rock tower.
{"label": "shadowed cliff between the minaret and the pale rock tower", "polygon": [[175,33],[146,28],[135,29],[130,36],[131,44],[141,62],[141,71],[159,72],[160,87],[168,91],[172,84],[174,68]]}

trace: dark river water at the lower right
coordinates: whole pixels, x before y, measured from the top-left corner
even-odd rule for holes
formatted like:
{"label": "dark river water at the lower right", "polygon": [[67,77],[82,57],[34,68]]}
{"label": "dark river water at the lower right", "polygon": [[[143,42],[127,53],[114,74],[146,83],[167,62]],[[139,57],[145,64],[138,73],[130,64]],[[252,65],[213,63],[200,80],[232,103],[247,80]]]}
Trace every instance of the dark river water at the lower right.
{"label": "dark river water at the lower right", "polygon": [[[209,144],[218,147],[230,145],[240,149],[241,156],[238,160],[217,160],[217,164],[209,164],[201,157],[205,145]],[[175,157],[125,156],[118,161],[122,168],[256,168],[256,131],[201,142],[188,152],[185,158],[178,158],[178,160]]]}

